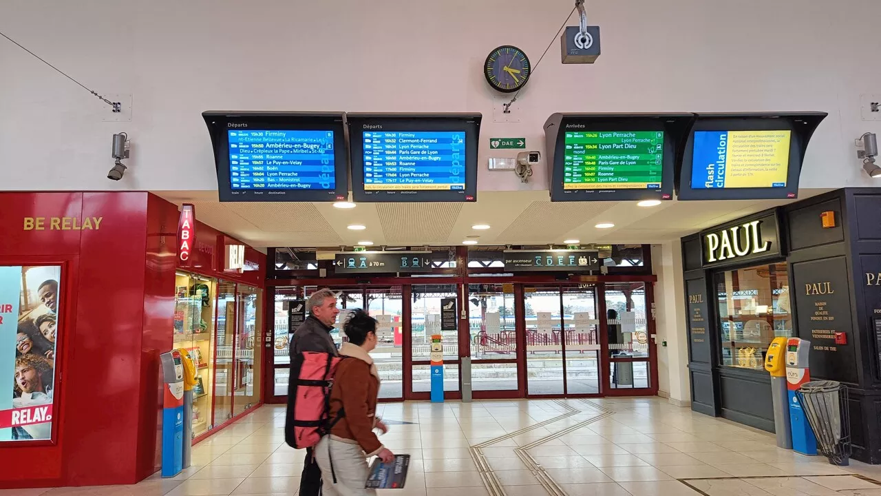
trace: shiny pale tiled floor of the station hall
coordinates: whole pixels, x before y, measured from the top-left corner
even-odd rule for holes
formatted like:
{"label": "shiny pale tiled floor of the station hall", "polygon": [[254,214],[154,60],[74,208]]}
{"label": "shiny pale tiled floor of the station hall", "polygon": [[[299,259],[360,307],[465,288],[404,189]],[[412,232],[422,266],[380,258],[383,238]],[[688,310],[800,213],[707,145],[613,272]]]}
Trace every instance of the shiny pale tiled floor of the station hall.
{"label": "shiny pale tiled floor of the station hall", "polygon": [[[381,404],[381,439],[411,455],[396,496],[881,496],[881,466],[774,447],[774,437],[660,398]],[[138,485],[0,491],[0,496],[291,496],[303,455],[266,406],[200,443],[193,467]],[[471,449],[470,447],[474,447]]]}

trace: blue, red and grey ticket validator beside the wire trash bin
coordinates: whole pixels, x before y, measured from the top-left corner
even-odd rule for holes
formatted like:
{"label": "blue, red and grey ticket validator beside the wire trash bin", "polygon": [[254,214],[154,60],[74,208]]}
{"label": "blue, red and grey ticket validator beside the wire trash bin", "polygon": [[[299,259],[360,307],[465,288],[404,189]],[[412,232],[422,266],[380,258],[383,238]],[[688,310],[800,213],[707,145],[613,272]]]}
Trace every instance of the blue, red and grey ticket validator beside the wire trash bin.
{"label": "blue, red and grey ticket validator beside the wire trash bin", "polygon": [[786,386],[789,397],[789,423],[792,425],[792,449],[802,455],[817,455],[817,438],[808,424],[796,391],[811,380],[808,353],[811,342],[791,337],[786,342]]}

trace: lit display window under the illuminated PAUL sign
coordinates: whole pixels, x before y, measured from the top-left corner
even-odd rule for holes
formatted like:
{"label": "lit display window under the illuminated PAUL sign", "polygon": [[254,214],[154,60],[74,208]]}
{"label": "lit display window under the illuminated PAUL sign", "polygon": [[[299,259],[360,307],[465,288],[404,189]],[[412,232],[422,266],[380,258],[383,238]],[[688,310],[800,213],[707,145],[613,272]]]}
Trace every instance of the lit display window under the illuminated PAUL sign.
{"label": "lit display window under the illuminated PAUL sign", "polygon": [[764,370],[775,337],[793,333],[785,262],[715,274],[724,366]]}

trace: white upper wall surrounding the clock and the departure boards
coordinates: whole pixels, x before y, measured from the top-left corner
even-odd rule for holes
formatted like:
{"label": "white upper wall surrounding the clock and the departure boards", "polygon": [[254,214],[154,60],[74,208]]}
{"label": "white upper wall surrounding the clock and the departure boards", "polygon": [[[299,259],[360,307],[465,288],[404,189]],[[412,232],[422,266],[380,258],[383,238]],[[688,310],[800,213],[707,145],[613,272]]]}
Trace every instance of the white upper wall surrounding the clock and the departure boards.
{"label": "white upper wall surrounding the clock and the departure boards", "polygon": [[[481,72],[501,44],[533,63],[572,0],[4,0],[0,29],[86,86],[133,94],[133,119],[102,123],[99,101],[0,40],[0,189],[212,190],[206,109],[480,111],[489,137],[541,148],[555,111],[829,112],[802,185],[870,184],[853,139],[862,93],[881,94],[877,0],[590,2],[602,27],[593,65],[559,63],[554,41],[522,92],[519,124],[495,124]],[[570,24],[576,24],[575,19]],[[133,165],[105,177],[110,135]],[[544,168],[521,185],[545,189]]]}

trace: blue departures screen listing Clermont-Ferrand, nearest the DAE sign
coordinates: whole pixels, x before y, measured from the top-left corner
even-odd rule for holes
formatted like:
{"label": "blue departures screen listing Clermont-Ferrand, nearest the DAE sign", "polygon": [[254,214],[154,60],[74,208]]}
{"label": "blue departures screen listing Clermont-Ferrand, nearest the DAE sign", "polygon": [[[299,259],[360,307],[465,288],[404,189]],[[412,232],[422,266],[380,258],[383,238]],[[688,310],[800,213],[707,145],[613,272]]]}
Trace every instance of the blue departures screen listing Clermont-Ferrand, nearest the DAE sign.
{"label": "blue departures screen listing Clermont-Ferrand, nearest the DAE sign", "polygon": [[465,189],[465,132],[364,132],[364,189]]}

